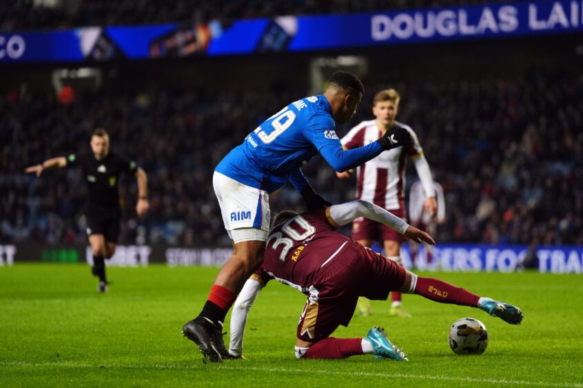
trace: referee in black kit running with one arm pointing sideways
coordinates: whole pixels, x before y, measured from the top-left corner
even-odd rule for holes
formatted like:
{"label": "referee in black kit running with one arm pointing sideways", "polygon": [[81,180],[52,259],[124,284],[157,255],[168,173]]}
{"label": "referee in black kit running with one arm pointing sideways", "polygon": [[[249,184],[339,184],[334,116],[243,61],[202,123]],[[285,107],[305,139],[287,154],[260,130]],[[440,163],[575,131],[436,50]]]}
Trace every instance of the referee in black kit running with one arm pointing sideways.
{"label": "referee in black kit running with one arm pointing sideways", "polygon": [[110,152],[110,136],[105,129],[96,129],[91,136],[91,153],[60,156],[45,160],[25,169],[26,173],[36,173],[61,167],[81,166],[87,180],[87,203],[85,220],[87,235],[93,251],[92,273],[99,278],[97,290],[108,290],[105,276],[105,259],[115,252],[121,221],[118,182],[121,173],[135,175],[138,182],[138,202],[136,213],[144,215],[150,205],[147,201],[147,175],[136,162],[118,153]]}

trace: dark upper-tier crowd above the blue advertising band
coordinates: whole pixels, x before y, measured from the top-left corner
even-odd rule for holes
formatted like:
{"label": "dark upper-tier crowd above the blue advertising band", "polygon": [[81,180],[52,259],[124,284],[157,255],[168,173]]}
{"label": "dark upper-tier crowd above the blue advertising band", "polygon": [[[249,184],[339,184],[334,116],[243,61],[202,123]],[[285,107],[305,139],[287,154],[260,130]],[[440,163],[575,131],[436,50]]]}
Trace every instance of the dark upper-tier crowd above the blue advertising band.
{"label": "dark upper-tier crowd above the blue advertising band", "polygon": [[[520,0],[519,0],[520,1]],[[16,0],[0,3],[0,30],[51,30],[85,25],[168,22],[225,23],[234,19],[302,14],[345,14],[410,8],[506,3],[502,0]]]}

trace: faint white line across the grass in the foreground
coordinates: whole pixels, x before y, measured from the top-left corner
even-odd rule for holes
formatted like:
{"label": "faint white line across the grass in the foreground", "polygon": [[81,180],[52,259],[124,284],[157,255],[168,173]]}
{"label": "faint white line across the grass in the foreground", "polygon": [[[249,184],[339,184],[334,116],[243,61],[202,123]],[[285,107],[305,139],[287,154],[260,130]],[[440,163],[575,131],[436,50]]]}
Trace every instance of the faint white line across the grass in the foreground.
{"label": "faint white line across the grass in the foreground", "polygon": [[[69,367],[69,368],[96,368],[103,366],[110,368],[126,368],[126,369],[203,369],[210,367],[210,365],[170,365],[170,364],[152,364],[152,365],[120,365],[120,364],[103,364],[92,365],[76,363],[72,361],[61,361],[53,363],[28,363],[26,361],[0,361],[3,366],[22,366],[22,367]],[[323,371],[313,369],[284,369],[284,368],[270,368],[270,367],[231,367],[224,364],[214,364],[216,369],[227,369],[234,371],[264,371],[272,373],[305,373],[309,371],[314,374],[327,374],[338,376],[368,376],[368,377],[382,377],[382,378],[414,378],[419,380],[441,380],[441,381],[457,381],[457,382],[485,382],[492,384],[508,384],[508,385],[534,385],[540,387],[583,387],[583,383],[577,382],[538,382],[526,380],[506,380],[495,378],[473,378],[473,377],[449,377],[449,376],[431,376],[420,374],[390,374],[390,373],[374,373],[374,372],[360,372],[360,371]],[[215,370],[216,370],[215,369]]]}

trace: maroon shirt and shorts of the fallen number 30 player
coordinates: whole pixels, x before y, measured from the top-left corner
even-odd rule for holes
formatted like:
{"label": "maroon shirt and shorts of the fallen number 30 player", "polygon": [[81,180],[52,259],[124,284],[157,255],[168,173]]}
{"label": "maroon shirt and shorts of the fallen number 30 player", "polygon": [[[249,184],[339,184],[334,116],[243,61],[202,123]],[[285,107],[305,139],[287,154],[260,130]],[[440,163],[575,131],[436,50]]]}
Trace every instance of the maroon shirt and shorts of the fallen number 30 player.
{"label": "maroon shirt and shorts of the fallen number 30 player", "polygon": [[345,237],[325,210],[296,215],[272,230],[256,272],[308,295],[298,338],[314,342],[348,325],[358,297],[385,300],[405,282],[405,269]]}

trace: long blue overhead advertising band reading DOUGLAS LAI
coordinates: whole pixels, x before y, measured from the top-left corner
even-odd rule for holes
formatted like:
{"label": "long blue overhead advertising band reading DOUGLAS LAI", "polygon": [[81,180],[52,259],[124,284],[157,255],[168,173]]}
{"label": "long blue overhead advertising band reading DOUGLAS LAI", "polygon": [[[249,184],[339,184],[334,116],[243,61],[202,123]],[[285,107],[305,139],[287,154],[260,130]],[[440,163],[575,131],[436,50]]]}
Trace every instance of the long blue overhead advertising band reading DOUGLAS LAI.
{"label": "long blue overhead advertising band reading DOUGLAS LAI", "polygon": [[307,52],[581,32],[583,0],[348,15],[0,32],[0,63]]}

